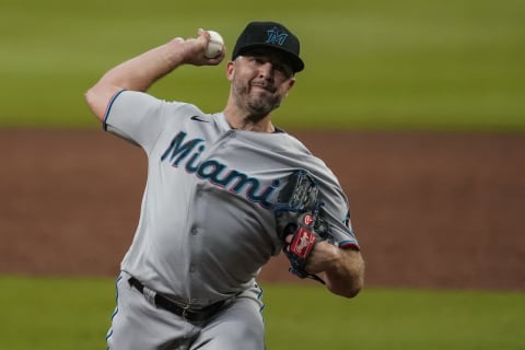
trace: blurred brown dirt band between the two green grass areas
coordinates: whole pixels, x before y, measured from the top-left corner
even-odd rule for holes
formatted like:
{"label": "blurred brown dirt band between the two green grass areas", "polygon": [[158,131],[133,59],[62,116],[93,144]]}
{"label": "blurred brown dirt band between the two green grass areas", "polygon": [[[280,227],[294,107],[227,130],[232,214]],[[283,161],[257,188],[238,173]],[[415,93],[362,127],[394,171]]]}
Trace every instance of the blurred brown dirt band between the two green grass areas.
{"label": "blurred brown dirt band between the two green grass areas", "polygon": [[[338,175],[373,287],[525,290],[525,136],[291,132]],[[115,276],[145,156],[100,130],[0,130],[0,273]],[[282,257],[262,281],[296,281]]]}

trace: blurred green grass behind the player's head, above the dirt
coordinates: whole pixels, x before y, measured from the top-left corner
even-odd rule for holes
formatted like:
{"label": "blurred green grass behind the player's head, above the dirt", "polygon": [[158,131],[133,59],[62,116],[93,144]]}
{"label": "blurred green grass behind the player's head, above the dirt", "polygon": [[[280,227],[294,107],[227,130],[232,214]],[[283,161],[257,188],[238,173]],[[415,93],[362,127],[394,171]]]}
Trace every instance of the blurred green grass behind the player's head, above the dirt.
{"label": "blurred green grass behind the player's head, above the dirt", "polygon": [[[83,92],[106,70],[198,27],[229,49],[252,20],[285,23],[306,70],[277,113],[293,128],[525,129],[523,0],[2,0],[0,126],[93,127]],[[222,109],[225,65],[151,91]]]}

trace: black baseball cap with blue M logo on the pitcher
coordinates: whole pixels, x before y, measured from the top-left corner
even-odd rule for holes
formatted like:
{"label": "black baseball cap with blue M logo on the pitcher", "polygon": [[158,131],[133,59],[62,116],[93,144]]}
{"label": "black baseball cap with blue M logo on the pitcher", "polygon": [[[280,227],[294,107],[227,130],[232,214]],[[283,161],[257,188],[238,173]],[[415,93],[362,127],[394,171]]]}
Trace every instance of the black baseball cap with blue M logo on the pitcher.
{"label": "black baseball cap with blue M logo on the pitcher", "polygon": [[268,47],[285,54],[294,72],[304,69],[304,62],[299,57],[299,38],[282,24],[277,22],[248,23],[235,43],[232,60],[257,47]]}

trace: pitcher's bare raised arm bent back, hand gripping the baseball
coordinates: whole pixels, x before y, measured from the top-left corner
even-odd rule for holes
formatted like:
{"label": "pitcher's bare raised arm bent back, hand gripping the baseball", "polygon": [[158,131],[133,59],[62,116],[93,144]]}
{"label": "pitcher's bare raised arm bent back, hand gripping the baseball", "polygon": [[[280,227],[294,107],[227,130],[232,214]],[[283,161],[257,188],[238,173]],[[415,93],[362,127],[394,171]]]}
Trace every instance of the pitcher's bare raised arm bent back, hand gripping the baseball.
{"label": "pitcher's bare raised arm bent back, hand gripping the baseball", "polygon": [[177,37],[145,51],[107,71],[85,93],[85,101],[95,116],[103,121],[112,97],[121,90],[145,92],[155,81],[180,65],[215,66],[225,52],[217,58],[206,58],[205,50],[210,36],[199,30],[197,38]]}

